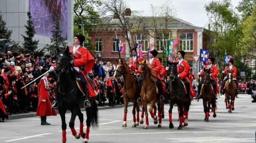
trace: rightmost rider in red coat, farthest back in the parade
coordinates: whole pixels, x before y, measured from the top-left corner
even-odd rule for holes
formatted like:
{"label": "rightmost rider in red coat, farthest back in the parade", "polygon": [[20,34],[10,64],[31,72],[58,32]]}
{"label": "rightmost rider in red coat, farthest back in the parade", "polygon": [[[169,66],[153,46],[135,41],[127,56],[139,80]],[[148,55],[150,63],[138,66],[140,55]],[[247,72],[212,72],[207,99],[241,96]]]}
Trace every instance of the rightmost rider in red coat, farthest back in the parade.
{"label": "rightmost rider in red coat, farthest back in the parade", "polygon": [[[238,83],[237,83],[237,79],[236,79],[236,67],[233,66],[234,61],[233,60],[229,60],[228,64],[229,66],[226,66],[225,70],[222,71],[223,75],[226,75],[229,71],[233,72],[232,76],[233,76],[233,80],[236,83],[236,94],[238,94],[240,91],[238,90]],[[224,85],[226,83],[226,81],[228,80],[227,76],[224,78],[223,82],[222,82],[222,87],[221,87],[221,93],[224,95],[225,93],[225,89],[224,89]]]}

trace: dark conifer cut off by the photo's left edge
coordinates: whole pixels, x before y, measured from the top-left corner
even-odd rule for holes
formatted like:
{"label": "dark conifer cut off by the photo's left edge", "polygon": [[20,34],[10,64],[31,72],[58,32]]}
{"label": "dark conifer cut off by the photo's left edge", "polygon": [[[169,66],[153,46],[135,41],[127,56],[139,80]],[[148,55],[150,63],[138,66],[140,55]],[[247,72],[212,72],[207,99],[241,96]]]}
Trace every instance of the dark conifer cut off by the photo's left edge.
{"label": "dark conifer cut off by the photo's left edge", "polygon": [[15,49],[20,48],[20,46],[17,42],[11,40],[11,35],[12,30],[6,28],[6,22],[4,22],[2,14],[0,13],[0,39],[7,39],[6,48],[12,52],[16,52]]}

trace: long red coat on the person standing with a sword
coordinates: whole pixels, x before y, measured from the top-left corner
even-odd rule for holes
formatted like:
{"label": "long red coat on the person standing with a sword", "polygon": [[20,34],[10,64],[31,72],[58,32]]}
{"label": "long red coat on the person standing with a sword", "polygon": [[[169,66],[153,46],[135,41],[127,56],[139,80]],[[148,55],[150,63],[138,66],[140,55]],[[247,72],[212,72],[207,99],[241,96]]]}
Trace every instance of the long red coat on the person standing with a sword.
{"label": "long red coat on the person standing with a sword", "polygon": [[43,76],[38,85],[38,108],[36,110],[36,115],[39,116],[51,116],[57,115],[54,108],[51,106],[50,93],[49,93],[49,81],[47,77]]}

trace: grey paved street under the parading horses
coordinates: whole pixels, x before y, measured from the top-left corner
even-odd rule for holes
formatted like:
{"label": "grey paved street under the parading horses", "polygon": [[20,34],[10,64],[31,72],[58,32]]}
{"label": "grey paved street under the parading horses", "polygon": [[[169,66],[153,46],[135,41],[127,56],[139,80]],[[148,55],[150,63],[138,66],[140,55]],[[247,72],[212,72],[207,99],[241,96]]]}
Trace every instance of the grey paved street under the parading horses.
{"label": "grey paved street under the parading horses", "polygon": [[[225,107],[224,95],[217,101],[217,117],[210,113],[209,122],[204,121],[202,99],[192,101],[188,114],[188,127],[178,128],[177,107],[173,109],[174,129],[169,129],[168,109],[164,106],[165,118],[162,128],[154,125],[149,118],[148,129],[144,124],[132,127],[132,107],[128,107],[127,127],[122,127],[124,108],[99,110],[100,125],[97,130],[90,130],[90,143],[253,143],[256,130],[256,103],[248,94],[239,94],[235,100],[235,109],[228,113]],[[84,116],[85,116],[85,112]],[[86,119],[86,117],[84,117]],[[66,114],[66,123],[70,113]],[[0,123],[0,142],[5,143],[61,143],[60,115],[47,117],[52,125],[40,125],[39,117],[7,120]],[[86,126],[86,125],[85,125]],[[79,132],[78,117],[75,121],[76,131]],[[86,128],[86,127],[85,127]],[[82,143],[83,139],[75,139],[67,127],[67,143]]]}

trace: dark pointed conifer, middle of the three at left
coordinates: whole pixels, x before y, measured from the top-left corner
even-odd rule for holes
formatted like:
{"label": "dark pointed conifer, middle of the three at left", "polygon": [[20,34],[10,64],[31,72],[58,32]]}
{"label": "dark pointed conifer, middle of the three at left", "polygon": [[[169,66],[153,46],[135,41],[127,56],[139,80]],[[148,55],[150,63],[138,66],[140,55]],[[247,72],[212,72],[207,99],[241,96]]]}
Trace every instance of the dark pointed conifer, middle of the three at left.
{"label": "dark pointed conifer, middle of the three at left", "polygon": [[34,52],[37,49],[37,45],[39,40],[33,40],[34,35],[35,35],[35,30],[34,30],[34,26],[33,26],[33,22],[31,20],[31,13],[27,12],[27,16],[28,16],[28,20],[27,20],[27,25],[25,25],[26,27],[26,35],[21,35],[24,38],[24,43],[22,43],[23,48],[28,50],[27,52]]}

